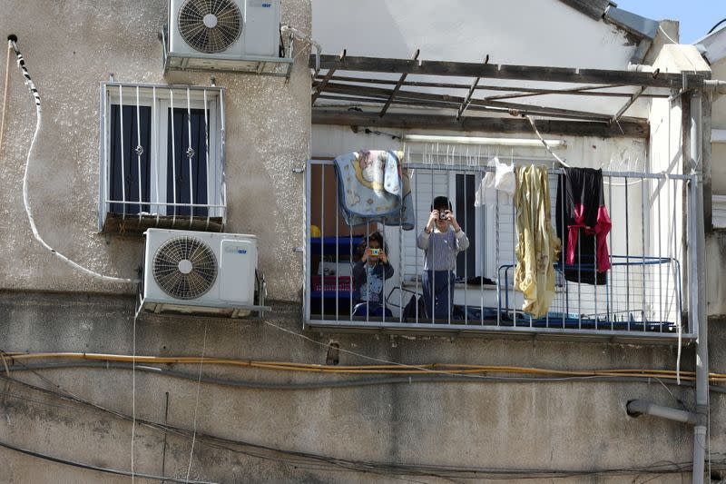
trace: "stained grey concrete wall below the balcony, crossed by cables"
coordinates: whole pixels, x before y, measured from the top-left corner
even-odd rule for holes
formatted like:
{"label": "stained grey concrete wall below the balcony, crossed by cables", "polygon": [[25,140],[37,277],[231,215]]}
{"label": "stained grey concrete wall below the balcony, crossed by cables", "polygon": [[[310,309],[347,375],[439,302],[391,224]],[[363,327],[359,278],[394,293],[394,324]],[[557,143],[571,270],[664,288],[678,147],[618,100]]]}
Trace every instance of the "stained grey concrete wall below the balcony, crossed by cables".
{"label": "stained grey concrete wall below the balcony, crossed by cables", "polygon": [[[132,354],[132,298],[73,294],[2,293],[0,331],[5,351],[97,351]],[[425,364],[468,362],[536,368],[609,369],[674,367],[676,349],[554,341],[392,338],[389,335],[308,334],[299,336],[299,308],[274,304],[266,322],[146,318],[136,324],[138,355],[200,355],[262,361],[325,363],[329,341],[340,344],[339,365],[381,361]],[[277,327],[276,327],[277,326]],[[721,351],[721,349],[716,349]],[[349,351],[349,352],[348,352]],[[364,355],[366,358],[363,358]],[[375,359],[375,360],[373,360]],[[715,356],[718,369],[723,356]],[[692,367],[684,349],[683,369]],[[34,361],[36,362],[36,361]],[[191,375],[180,380],[136,371],[138,418],[192,429],[199,365],[162,365]],[[44,378],[14,371],[13,378],[65,391],[110,410],[132,414],[132,372],[113,369],[39,370]],[[325,382],[377,375],[325,375],[203,366],[202,373],[253,382]],[[15,383],[0,382],[0,436],[15,445],[64,459],[130,469],[131,423],[83,405],[58,400]],[[56,389],[57,390],[57,389]],[[672,394],[669,392],[672,391]],[[197,430],[229,440],[340,459],[432,465],[525,469],[623,469],[657,461],[687,462],[692,430],[652,418],[633,420],[625,403],[633,398],[676,406],[692,405],[692,390],[657,382],[407,382],[342,389],[251,390],[201,384]],[[27,400],[30,399],[30,400]],[[718,405],[721,398],[714,398]],[[720,409],[711,410],[711,435],[721,442]],[[134,467],[160,474],[163,432],[137,425]],[[218,442],[219,443],[219,442]],[[240,450],[229,442],[224,447]],[[185,477],[189,439],[169,434],[167,475]],[[392,482],[391,475],[307,469],[289,455],[263,449],[246,452],[211,447],[196,440],[191,477],[222,482],[304,480]],[[714,447],[721,449],[721,447]],[[0,450],[5,477],[38,482],[61,477],[94,482],[103,475],[42,464]],[[274,457],[275,459],[270,459]],[[280,460],[281,459],[281,460]],[[420,478],[419,478],[420,479]],[[612,482],[630,481],[620,476]],[[680,477],[677,477],[680,479]],[[663,478],[663,482],[678,481]],[[115,482],[120,479],[109,479]],[[424,479],[437,481],[437,479]],[[611,482],[584,478],[572,482]]]}

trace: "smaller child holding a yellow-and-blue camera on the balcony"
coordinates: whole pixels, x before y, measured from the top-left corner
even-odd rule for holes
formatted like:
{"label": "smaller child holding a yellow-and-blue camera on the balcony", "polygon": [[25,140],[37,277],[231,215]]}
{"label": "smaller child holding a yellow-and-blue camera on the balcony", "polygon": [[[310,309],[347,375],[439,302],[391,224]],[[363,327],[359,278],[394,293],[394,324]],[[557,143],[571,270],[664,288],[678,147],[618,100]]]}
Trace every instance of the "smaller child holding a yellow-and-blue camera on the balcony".
{"label": "smaller child holding a yellow-and-blue camera on the balcony", "polygon": [[[360,258],[353,265],[353,288],[358,295],[353,316],[382,316],[383,286],[393,276],[393,266],[388,263],[383,235],[380,232],[371,233],[368,242],[362,242],[358,247],[358,255]],[[386,316],[393,316],[388,308]]]}

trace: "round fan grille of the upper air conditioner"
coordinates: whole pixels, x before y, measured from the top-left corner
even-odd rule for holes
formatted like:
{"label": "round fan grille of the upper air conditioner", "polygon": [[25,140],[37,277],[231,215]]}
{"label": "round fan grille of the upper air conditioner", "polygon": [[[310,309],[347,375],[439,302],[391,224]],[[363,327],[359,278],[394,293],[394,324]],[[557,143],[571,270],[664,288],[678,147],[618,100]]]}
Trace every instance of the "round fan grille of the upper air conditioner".
{"label": "round fan grille of the upper air conditioner", "polygon": [[231,0],[187,0],[178,22],[184,41],[204,54],[229,49],[242,32],[240,7]]}

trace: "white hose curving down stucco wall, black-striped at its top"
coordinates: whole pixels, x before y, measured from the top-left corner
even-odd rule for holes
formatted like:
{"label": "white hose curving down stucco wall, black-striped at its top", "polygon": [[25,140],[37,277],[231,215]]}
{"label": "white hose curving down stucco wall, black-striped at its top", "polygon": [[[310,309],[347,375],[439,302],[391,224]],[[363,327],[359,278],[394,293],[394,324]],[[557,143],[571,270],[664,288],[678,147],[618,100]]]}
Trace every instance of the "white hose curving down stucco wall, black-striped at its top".
{"label": "white hose curving down stucco wall, black-striped at its top", "polygon": [[30,169],[30,159],[33,154],[33,150],[35,147],[35,140],[38,137],[38,133],[40,132],[40,126],[41,122],[43,120],[43,109],[41,108],[40,104],[40,94],[38,93],[38,90],[35,88],[35,84],[33,83],[33,80],[30,78],[30,74],[28,74],[28,70],[25,67],[25,59],[23,58],[23,54],[20,54],[20,51],[17,48],[17,37],[14,35],[11,35],[7,39],[8,43],[10,44],[10,47],[13,48],[15,51],[15,55],[17,56],[17,65],[20,68],[21,73],[24,77],[25,85],[28,86],[28,90],[31,94],[34,96],[35,100],[35,131],[33,133],[33,140],[30,142],[30,148],[28,149],[27,158],[25,159],[25,174],[23,175],[23,203],[25,205],[25,213],[28,216],[28,222],[30,223],[30,228],[33,231],[33,236],[36,241],[40,242],[41,245],[45,249],[47,249],[49,252],[51,252],[55,257],[59,258],[61,261],[67,263],[74,269],[85,272],[86,274],[93,276],[97,279],[101,279],[103,281],[107,282],[126,282],[126,283],[136,283],[139,282],[137,279],[127,279],[123,277],[113,277],[113,276],[107,276],[103,275],[98,272],[94,272],[86,267],[83,267],[83,265],[79,264],[78,262],[74,262],[68,257],[66,257],[61,252],[56,251],[53,247],[48,245],[47,242],[43,240],[43,237],[41,237],[40,233],[38,232],[38,228],[35,226],[35,220],[33,216],[33,210],[30,208],[30,197],[28,196],[28,173]]}

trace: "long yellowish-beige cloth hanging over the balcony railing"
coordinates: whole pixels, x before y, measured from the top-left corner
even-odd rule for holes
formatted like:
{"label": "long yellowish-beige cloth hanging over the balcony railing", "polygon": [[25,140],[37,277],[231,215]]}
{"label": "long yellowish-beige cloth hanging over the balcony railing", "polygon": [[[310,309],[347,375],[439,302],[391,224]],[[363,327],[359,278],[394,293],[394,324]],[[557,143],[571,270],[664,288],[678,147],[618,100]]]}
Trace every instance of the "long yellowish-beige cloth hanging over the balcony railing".
{"label": "long yellowish-beige cloth hanging over the balcony railing", "polygon": [[522,291],[522,311],[541,318],[554,298],[554,262],[561,249],[551,220],[549,179],[544,166],[515,168],[515,289]]}

